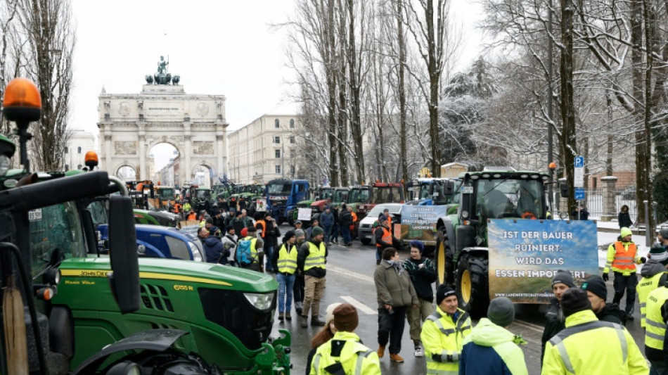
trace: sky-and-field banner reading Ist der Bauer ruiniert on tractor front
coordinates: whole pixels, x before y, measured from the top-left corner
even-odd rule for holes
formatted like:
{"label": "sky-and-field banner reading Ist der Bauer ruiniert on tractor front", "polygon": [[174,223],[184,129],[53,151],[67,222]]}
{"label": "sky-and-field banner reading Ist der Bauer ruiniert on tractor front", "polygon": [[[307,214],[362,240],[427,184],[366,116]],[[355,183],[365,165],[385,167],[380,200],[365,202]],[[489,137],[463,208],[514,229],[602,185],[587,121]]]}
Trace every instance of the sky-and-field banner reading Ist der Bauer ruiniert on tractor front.
{"label": "sky-and-field banner reading Ist der Bauer ruiniert on tractor front", "polygon": [[548,303],[558,270],[575,284],[598,274],[596,223],[563,220],[490,220],[489,298]]}

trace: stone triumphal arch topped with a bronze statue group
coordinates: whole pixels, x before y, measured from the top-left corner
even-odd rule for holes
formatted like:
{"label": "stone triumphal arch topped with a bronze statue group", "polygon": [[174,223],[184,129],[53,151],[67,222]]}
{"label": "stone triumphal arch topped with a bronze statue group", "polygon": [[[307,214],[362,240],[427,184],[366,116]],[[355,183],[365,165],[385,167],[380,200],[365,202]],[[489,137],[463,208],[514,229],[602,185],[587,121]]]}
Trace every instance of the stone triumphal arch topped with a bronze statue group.
{"label": "stone triumphal arch topped with a bronze statue group", "polygon": [[213,174],[227,173],[225,96],[186,94],[166,68],[147,75],[139,94],[99,96],[101,169],[117,174],[133,167],[139,179],[150,179],[148,151],[156,144],[171,144],[179,151],[174,160],[177,183],[191,182],[195,168],[204,165]]}

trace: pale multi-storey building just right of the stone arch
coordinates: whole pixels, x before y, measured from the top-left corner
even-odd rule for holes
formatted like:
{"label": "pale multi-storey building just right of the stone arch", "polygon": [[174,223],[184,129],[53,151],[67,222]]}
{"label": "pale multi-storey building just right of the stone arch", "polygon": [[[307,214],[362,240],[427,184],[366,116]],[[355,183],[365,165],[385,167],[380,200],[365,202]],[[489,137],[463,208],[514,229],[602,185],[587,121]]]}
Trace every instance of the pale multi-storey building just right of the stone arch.
{"label": "pale multi-storey building just right of the stone arch", "polygon": [[265,184],[271,179],[299,178],[297,145],[302,132],[299,115],[266,114],[230,133],[229,179]]}

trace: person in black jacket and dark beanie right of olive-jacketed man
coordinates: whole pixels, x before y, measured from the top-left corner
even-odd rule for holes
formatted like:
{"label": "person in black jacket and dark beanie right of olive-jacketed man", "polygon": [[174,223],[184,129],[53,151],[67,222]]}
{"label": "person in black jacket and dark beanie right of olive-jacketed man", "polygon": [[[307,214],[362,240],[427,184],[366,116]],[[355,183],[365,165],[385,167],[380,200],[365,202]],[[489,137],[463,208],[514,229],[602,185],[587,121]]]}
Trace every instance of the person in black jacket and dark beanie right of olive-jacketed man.
{"label": "person in black jacket and dark beanie right of olive-jacketed man", "polygon": [[411,327],[411,340],[415,345],[415,356],[423,357],[425,350],[420,343],[422,333],[422,322],[434,312],[434,288],[432,284],[436,281],[436,268],[429,258],[423,257],[425,246],[421,241],[411,241],[411,258],[404,261],[403,267],[411,277],[413,288],[418,295],[418,305],[409,307],[406,317]]}

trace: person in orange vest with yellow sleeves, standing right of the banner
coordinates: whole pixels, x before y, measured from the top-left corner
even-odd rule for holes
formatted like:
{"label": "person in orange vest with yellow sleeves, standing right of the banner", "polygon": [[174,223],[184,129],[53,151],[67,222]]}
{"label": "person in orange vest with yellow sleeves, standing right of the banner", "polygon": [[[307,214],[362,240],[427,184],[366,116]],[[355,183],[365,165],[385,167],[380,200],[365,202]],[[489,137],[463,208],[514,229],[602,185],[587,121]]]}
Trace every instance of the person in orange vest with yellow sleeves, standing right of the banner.
{"label": "person in orange vest with yellow sleeves, standing right of the banner", "polygon": [[634,303],[636,303],[636,265],[645,262],[645,257],[638,257],[638,248],[631,241],[633,232],[629,228],[622,228],[619,235],[619,241],[610,244],[608,248],[608,257],[606,258],[605,268],[603,268],[603,280],[608,281],[610,269],[615,274],[615,280],[612,286],[615,288],[615,297],[612,303],[617,303],[622,307],[622,297],[624,291],[627,293],[627,305],[624,310],[627,312],[627,319],[634,319]]}

